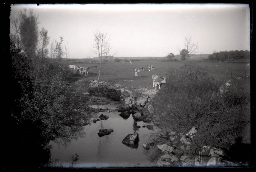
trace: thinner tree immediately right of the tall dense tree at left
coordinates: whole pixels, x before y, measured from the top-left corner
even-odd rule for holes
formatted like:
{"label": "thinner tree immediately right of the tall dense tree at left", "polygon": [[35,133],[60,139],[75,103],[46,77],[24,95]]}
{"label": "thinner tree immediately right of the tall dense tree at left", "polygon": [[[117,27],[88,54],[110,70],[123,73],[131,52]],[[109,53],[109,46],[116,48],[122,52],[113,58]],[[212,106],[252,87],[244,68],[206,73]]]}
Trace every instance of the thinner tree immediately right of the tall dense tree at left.
{"label": "thinner tree immediately right of the tall dense tree at left", "polygon": [[42,28],[42,30],[39,33],[39,44],[40,47],[38,49],[38,53],[41,54],[41,57],[46,57],[48,52],[48,49],[46,48],[50,42],[50,37],[48,37],[48,30],[45,28]]}

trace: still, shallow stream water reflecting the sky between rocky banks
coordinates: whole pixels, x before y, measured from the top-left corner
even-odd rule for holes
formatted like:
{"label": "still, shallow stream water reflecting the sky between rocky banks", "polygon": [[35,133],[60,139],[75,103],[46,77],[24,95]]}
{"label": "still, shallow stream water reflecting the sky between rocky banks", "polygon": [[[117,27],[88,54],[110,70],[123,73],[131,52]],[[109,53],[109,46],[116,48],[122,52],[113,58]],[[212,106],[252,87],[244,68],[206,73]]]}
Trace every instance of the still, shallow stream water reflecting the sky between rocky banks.
{"label": "still, shallow stream water reflecting the sky between rocky banks", "polygon": [[[94,119],[99,115],[108,115],[107,120],[100,120],[96,123],[84,126],[86,133],[84,138],[72,140],[68,147],[59,147],[53,141],[51,159],[58,159],[57,163],[51,164],[51,167],[64,168],[118,168],[118,167],[156,167],[148,151],[143,144],[150,142],[151,135],[157,129],[149,130],[143,121],[135,121],[130,115],[124,119],[116,109],[121,107],[120,102],[111,101],[106,97],[98,97],[105,105],[91,105],[92,108],[106,109],[111,112],[95,113]],[[152,124],[151,124],[152,125]],[[138,128],[137,126],[141,126]],[[144,126],[144,127],[143,127]],[[113,132],[103,137],[98,136],[99,129],[113,129]],[[122,140],[128,135],[137,132],[139,134],[139,143],[128,147],[122,143]],[[77,154],[79,159],[76,163],[71,163],[71,157]]]}

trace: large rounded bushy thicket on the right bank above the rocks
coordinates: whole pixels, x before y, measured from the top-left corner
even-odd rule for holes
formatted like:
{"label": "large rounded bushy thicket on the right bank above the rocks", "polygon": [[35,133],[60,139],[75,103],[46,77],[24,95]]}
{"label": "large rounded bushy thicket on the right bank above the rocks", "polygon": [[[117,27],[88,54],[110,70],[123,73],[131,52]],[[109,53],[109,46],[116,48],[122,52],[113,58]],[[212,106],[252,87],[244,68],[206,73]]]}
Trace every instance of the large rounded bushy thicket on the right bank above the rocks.
{"label": "large rounded bushy thicket on the right bank above the rocks", "polygon": [[225,82],[213,80],[207,71],[195,63],[185,63],[178,70],[170,68],[166,85],[152,102],[160,128],[176,128],[181,133],[198,129],[194,152],[204,145],[228,149],[247,122],[242,116],[248,95],[231,83],[220,96],[217,93]]}

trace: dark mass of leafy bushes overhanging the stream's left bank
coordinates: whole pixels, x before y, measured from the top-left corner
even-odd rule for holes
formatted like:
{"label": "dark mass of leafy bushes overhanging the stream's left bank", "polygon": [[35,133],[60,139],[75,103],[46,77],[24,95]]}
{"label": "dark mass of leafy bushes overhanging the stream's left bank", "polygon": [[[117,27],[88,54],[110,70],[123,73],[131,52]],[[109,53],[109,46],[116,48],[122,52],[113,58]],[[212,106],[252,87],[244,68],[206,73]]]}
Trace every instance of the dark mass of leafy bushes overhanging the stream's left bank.
{"label": "dark mass of leafy bushes overhanging the stream's left bank", "polygon": [[[29,58],[20,50],[11,43],[14,91],[11,116],[6,121],[5,147],[9,152],[5,152],[5,166],[37,167],[38,163],[48,161],[50,140],[67,144],[83,136],[83,124],[90,116],[86,100],[79,97],[68,81],[70,71],[63,59]],[[46,159],[42,159],[42,154]]]}

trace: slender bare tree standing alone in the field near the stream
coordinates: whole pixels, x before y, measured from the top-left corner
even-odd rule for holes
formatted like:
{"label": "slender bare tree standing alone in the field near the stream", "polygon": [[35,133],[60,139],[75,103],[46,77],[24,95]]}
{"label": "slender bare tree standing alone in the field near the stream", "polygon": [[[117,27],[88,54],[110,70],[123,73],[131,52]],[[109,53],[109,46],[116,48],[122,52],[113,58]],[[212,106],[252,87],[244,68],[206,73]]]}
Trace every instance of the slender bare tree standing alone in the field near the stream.
{"label": "slender bare tree standing alone in the field near the stream", "polygon": [[[112,57],[116,54],[110,55],[110,36],[107,36],[107,33],[101,32],[101,30],[94,33],[94,43],[92,47],[94,48],[92,50],[93,53],[97,54],[99,57],[99,76],[101,75],[101,68],[102,66],[112,59]],[[99,81],[98,76],[98,81]]]}

